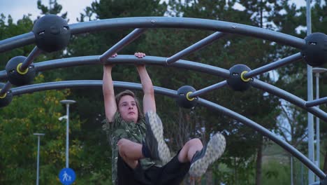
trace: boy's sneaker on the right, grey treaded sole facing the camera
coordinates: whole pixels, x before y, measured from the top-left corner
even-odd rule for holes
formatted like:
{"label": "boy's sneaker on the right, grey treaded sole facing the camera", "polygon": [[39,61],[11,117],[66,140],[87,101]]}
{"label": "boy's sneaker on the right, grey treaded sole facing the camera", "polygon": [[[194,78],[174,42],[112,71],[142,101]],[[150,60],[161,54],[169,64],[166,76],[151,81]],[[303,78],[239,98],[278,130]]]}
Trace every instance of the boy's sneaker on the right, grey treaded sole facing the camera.
{"label": "boy's sneaker on the right, grey treaded sole facing the camera", "polygon": [[224,153],[226,139],[224,135],[217,133],[212,136],[207,146],[201,151],[197,151],[191,159],[189,174],[191,177],[201,177],[208,166],[215,162]]}

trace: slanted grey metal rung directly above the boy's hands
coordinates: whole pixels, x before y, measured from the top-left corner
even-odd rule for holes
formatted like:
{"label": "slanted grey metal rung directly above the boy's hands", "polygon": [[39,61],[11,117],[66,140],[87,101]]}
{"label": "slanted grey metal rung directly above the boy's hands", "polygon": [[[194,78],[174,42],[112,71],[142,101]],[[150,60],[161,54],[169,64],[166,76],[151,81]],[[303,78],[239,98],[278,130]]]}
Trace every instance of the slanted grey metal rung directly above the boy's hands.
{"label": "slanted grey metal rung directly above the boy's hands", "polygon": [[124,37],[124,39],[120,40],[119,42],[117,42],[114,46],[112,46],[109,50],[107,50],[105,53],[103,53],[100,57],[99,60],[101,62],[105,62],[106,60],[108,60],[108,58],[115,54],[118,53],[119,50],[122,50],[122,48],[124,48],[124,46],[127,46],[129,43],[131,43],[132,41],[134,41],[135,39],[138,38],[138,36],[140,36],[141,34],[143,34],[145,32],[145,30],[147,29],[134,29],[133,32],[131,32],[130,34],[128,34],[127,36]]}

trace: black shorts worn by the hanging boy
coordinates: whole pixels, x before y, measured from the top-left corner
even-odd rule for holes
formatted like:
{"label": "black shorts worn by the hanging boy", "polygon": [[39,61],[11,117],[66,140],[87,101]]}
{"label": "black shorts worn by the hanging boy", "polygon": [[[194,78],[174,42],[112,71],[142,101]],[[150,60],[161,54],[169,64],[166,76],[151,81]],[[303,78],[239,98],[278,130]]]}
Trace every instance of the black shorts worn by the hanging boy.
{"label": "black shorts worn by the hanging boy", "polygon": [[118,155],[117,180],[119,185],[178,185],[189,172],[189,167],[190,163],[180,163],[176,155],[162,167],[152,166],[143,170],[138,163],[137,167],[132,169]]}

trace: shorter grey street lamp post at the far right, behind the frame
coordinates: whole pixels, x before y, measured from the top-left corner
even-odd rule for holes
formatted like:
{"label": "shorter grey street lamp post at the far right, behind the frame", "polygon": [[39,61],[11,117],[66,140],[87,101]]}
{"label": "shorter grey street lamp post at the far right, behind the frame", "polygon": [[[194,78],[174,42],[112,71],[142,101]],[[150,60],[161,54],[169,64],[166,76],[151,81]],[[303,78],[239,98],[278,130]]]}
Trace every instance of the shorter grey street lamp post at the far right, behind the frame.
{"label": "shorter grey street lamp post at the far right, behind the frame", "polygon": [[[312,68],[312,72],[316,74],[316,100],[319,99],[319,74],[326,72],[326,68],[321,67],[314,67]],[[317,105],[319,108],[319,105]],[[317,152],[316,152],[316,159],[317,159],[317,166],[319,167],[320,164],[320,125],[319,125],[319,118],[316,117],[316,139],[317,139]]]}

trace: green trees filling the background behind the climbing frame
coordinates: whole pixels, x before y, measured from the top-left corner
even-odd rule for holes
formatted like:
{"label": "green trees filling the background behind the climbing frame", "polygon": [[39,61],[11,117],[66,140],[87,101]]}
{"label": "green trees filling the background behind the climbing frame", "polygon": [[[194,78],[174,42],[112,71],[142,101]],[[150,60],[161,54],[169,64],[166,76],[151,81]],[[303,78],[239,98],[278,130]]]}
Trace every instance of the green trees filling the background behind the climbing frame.
{"label": "green trees filling the background behind the climbing frame", "polygon": [[[62,6],[57,4],[57,1],[54,1],[52,8],[41,4],[41,1],[38,1],[37,6],[42,15],[61,14],[61,17],[67,19],[68,13],[61,13]],[[326,12],[326,4],[320,6],[314,4],[312,7],[313,32],[327,32]],[[159,0],[100,0],[87,6],[85,13],[81,13],[78,20],[84,22],[141,16],[179,16],[237,22],[300,38],[305,37],[305,32],[300,30],[301,26],[305,27],[305,8],[297,8],[288,0],[169,0],[162,4]],[[1,15],[0,39],[30,32],[33,22],[28,15],[18,20],[17,24],[10,17],[5,22],[4,15]],[[62,57],[101,55],[131,31],[131,29],[106,30],[74,35],[71,36],[71,42],[65,52],[40,55],[36,62]],[[212,33],[212,31],[198,29],[149,29],[136,41],[119,51],[119,54],[133,55],[134,52],[142,51],[147,55],[169,57]],[[0,66],[4,69],[11,57],[27,56],[32,49],[33,46],[25,46],[1,53]],[[246,64],[249,68],[256,69],[298,52],[300,50],[271,41],[228,34],[183,59],[224,69],[229,69],[235,64]],[[192,85],[199,90],[225,80],[219,76],[172,67],[149,66],[147,70],[154,85],[173,90],[177,90],[182,85]],[[275,74],[277,74],[275,78],[269,73],[254,78],[276,85],[306,100],[307,82],[304,61],[281,67],[275,71]],[[326,74],[322,74],[322,78],[324,76]],[[140,82],[133,66],[115,66],[112,77],[115,81]],[[43,71],[38,74],[35,83],[56,81],[58,78],[61,80],[99,80],[102,78],[102,67],[92,65]],[[326,90],[325,83],[326,81],[320,82],[323,92]],[[141,95],[141,93],[137,94]],[[224,87],[201,97],[252,119],[284,137],[286,141],[291,135],[292,139],[287,142],[298,144],[299,149],[302,150],[303,142],[301,141],[307,132],[305,111],[284,104],[278,97],[255,88],[238,93],[231,88]],[[101,89],[84,88],[14,97],[10,106],[1,109],[0,144],[2,149],[8,150],[0,151],[0,184],[15,184],[17,181],[34,183],[36,137],[32,133],[39,132],[38,130],[45,132],[41,143],[41,184],[42,182],[48,184],[59,182],[57,174],[64,166],[64,125],[60,124],[57,118],[65,113],[64,107],[58,101],[65,98],[78,102],[71,107],[73,123],[71,124],[70,161],[71,167],[78,174],[76,184],[110,183],[110,145],[101,132],[101,121],[104,119],[103,95]],[[218,179],[215,184],[219,182],[264,184],[261,177],[265,181],[277,177],[271,167],[261,164],[263,148],[269,142],[266,142],[267,139],[252,128],[204,107],[197,106],[191,110],[181,109],[177,107],[175,100],[162,95],[156,96],[156,102],[159,116],[164,123],[165,137],[173,153],[193,137],[200,137],[203,143],[206,143],[214,132],[224,133],[227,141],[226,151],[223,157],[210,167],[212,178]],[[20,111],[17,111],[17,107]],[[325,106],[321,108],[326,109]],[[287,130],[290,132],[288,135],[284,135],[286,131],[283,130],[286,122],[292,128],[292,130]],[[326,124],[321,125],[321,138],[324,138],[327,128]],[[170,132],[171,130],[175,132]],[[325,139],[324,143],[326,143]],[[280,181],[284,182],[284,179]]]}

